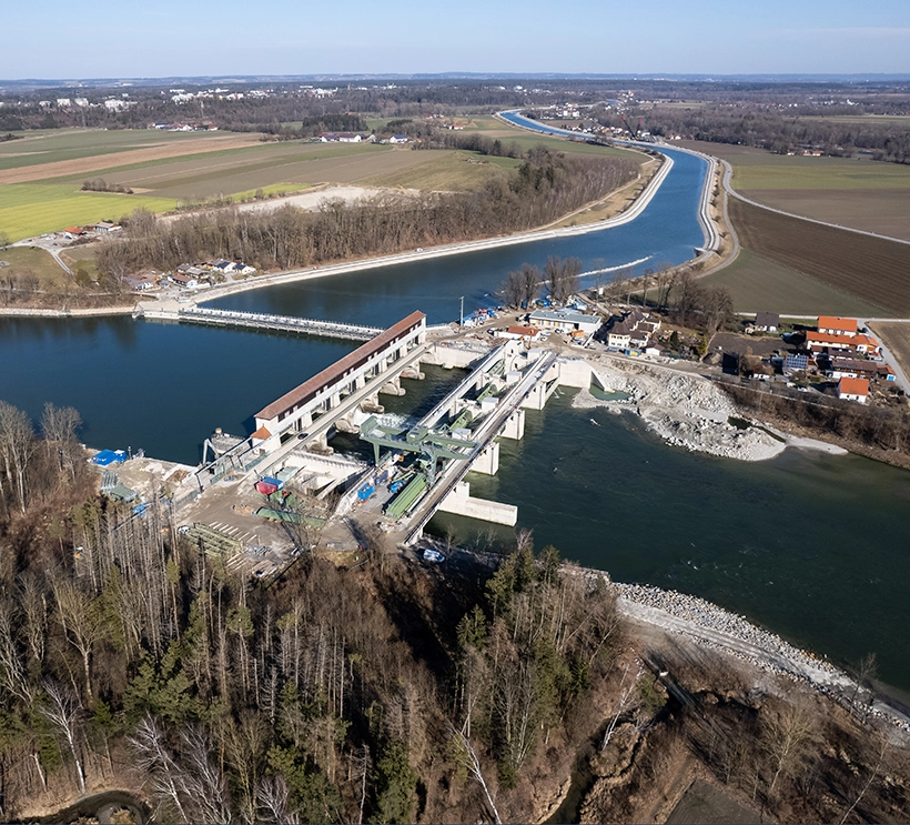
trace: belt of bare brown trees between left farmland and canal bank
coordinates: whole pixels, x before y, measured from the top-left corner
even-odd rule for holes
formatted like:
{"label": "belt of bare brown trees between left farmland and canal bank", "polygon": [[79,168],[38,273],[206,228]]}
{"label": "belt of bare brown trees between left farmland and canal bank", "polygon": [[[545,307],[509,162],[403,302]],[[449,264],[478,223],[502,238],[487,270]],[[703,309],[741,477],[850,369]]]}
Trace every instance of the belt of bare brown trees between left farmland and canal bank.
{"label": "belt of bare brown trees between left farmland and canal bank", "polygon": [[527,150],[509,177],[468,193],[378,194],[325,202],[316,212],[221,210],[159,222],[134,214],[122,241],[102,245],[114,278],[212,258],[287,270],[534,229],[599,200],[637,173],[635,160]]}

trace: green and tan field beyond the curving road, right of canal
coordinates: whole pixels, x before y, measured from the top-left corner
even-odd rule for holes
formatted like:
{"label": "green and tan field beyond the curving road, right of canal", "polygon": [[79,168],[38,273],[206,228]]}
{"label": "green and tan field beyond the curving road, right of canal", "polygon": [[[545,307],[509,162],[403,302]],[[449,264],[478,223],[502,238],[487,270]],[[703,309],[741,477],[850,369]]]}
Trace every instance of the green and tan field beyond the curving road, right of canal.
{"label": "green and tan field beyond the curving road, right of canal", "polygon": [[734,168],[732,187],[775,209],[910,240],[910,168],[855,158],[805,158],[683,141]]}

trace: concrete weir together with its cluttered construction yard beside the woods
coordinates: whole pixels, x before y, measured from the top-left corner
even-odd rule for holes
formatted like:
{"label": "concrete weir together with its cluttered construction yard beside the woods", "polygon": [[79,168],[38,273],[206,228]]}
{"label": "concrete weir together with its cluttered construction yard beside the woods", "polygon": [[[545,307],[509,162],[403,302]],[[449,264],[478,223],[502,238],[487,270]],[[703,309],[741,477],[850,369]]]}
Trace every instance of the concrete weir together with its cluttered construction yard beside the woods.
{"label": "concrete weir together with its cluttered construction yard beside the woods", "polygon": [[[423,415],[386,412],[381,396],[404,395],[422,364],[466,374]],[[381,534],[386,546],[417,547],[437,511],[514,526],[517,507],[472,496],[465,476],[495,475],[499,439],[523,437],[525,410],[592,380],[583,359],[527,342],[428,340],[415,312],[267,404],[251,435],[216,430],[199,466],[99,462],[110,462],[105,483],[134,517],[164,501],[173,527],[206,554],[269,580],[316,547],[350,551],[354,563]],[[356,454],[330,445],[341,433],[356,439]]]}

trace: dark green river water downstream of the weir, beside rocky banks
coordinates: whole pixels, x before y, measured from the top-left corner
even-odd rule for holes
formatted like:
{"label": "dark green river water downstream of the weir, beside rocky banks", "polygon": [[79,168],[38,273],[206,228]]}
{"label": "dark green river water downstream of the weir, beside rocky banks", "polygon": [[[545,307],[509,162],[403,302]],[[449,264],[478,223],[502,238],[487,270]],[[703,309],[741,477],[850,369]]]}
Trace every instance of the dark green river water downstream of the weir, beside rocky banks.
{"label": "dark green river water downstream of the weir, beside rocky banks", "polygon": [[[910,688],[910,473],[798,450],[688,453],[560,393],[527,412],[523,441],[501,442],[497,475],[468,474],[472,495],[517,505],[538,550],[699,595],[837,664],[874,652],[880,677]],[[467,545],[513,535],[446,514],[431,531]]]}

